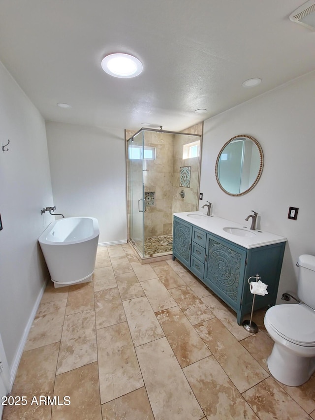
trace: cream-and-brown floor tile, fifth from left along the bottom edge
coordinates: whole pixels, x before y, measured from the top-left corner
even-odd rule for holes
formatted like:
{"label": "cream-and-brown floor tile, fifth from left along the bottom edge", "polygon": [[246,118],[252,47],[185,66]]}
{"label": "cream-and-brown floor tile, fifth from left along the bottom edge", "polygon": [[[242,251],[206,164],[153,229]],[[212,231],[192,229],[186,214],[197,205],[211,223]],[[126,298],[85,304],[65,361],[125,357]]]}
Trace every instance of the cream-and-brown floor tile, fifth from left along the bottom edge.
{"label": "cream-and-brown floor tile, fifth from left along the bottom edge", "polygon": [[183,370],[208,420],[258,420],[214,356]]}

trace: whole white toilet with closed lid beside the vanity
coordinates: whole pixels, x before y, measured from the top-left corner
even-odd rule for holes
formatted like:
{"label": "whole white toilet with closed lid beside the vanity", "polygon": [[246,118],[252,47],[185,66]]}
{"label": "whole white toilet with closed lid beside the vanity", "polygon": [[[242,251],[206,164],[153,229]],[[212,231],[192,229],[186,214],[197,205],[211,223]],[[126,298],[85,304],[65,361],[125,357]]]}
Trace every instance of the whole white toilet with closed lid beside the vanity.
{"label": "whole white toilet with closed lid beside the vanity", "polygon": [[304,384],[315,372],[315,257],[301,255],[297,265],[297,293],[303,303],[273,306],[264,319],[275,342],[267,360],[269,371],[291,387]]}

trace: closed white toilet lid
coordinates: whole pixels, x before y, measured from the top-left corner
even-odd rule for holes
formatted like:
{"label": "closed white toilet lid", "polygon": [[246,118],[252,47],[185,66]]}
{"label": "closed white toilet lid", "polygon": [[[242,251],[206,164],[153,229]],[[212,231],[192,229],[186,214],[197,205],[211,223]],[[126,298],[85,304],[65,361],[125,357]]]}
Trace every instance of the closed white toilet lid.
{"label": "closed white toilet lid", "polygon": [[279,335],[300,346],[315,346],[315,311],[304,304],[276,305],[266,319]]}

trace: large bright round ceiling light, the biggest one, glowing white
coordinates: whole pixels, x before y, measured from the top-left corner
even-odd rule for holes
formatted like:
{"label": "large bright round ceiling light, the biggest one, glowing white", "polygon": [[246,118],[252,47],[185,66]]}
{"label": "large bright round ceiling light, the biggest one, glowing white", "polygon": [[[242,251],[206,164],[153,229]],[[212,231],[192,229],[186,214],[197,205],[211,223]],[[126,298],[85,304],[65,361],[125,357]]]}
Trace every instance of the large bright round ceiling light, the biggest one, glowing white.
{"label": "large bright round ceiling light, the biggest one, glowing white", "polygon": [[143,70],[140,60],[122,53],[109,54],[104,57],[101,66],[106,73],[122,79],[138,76]]}

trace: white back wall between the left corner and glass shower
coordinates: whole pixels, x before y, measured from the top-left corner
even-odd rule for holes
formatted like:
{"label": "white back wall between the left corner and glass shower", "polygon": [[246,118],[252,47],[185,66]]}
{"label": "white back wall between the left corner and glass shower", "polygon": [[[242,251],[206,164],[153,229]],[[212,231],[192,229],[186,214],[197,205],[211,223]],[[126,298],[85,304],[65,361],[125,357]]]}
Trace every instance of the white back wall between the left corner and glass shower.
{"label": "white back wall between the left corner and glass shower", "polygon": [[126,242],[124,130],[55,122],[46,130],[56,213],[98,219],[99,243]]}

